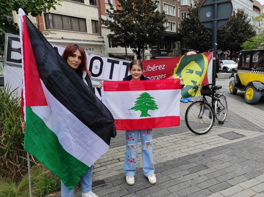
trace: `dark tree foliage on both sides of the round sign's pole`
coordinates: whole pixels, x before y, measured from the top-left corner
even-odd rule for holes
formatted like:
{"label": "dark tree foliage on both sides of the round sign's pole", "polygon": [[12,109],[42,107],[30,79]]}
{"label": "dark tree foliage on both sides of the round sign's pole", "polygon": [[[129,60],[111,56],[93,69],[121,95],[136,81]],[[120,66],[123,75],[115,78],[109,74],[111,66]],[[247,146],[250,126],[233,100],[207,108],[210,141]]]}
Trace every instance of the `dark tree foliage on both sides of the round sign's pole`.
{"label": "dark tree foliage on both sides of the round sign's pole", "polygon": [[[198,18],[202,1],[189,9],[188,17],[182,22],[182,41],[191,49],[200,52],[212,49],[212,29],[206,28]],[[241,9],[233,12],[231,19],[222,27],[217,28],[217,48],[238,52],[242,43],[255,35],[248,15]]]}

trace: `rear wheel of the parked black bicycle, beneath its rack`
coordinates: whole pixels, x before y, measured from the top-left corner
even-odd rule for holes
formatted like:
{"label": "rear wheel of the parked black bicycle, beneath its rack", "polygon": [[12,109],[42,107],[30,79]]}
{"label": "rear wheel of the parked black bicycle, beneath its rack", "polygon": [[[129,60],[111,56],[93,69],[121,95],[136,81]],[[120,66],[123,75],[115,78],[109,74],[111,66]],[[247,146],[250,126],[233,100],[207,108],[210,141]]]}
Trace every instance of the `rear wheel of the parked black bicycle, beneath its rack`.
{"label": "rear wheel of the parked black bicycle, beneath its rack", "polygon": [[227,98],[224,94],[220,94],[221,96],[215,102],[215,117],[219,122],[224,122],[227,118]]}

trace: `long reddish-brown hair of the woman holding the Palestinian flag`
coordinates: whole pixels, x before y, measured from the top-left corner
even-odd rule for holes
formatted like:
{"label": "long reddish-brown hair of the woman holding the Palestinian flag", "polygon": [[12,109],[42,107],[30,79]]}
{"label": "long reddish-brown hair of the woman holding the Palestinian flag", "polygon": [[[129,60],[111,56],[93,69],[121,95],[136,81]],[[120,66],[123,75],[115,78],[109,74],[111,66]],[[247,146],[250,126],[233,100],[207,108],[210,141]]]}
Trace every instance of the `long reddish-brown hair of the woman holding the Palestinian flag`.
{"label": "long reddish-brown hair of the woman holding the Palestinian flag", "polygon": [[76,50],[79,50],[81,52],[82,55],[82,62],[79,65],[79,67],[76,69],[76,73],[78,73],[78,71],[83,71],[83,72],[87,72],[90,77],[91,77],[91,72],[87,69],[87,58],[86,58],[86,54],[83,50],[83,48],[77,44],[69,44],[65,50],[63,51],[62,54],[62,58],[67,61],[67,58],[72,55]]}

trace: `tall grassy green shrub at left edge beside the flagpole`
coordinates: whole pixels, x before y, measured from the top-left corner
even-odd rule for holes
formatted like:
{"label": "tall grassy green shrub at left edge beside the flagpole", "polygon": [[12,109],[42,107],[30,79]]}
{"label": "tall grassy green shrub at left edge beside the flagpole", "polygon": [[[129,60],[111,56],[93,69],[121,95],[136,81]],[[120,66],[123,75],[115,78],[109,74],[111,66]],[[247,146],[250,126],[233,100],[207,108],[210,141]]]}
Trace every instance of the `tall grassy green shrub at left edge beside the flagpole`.
{"label": "tall grassy green shrub at left edge beside the flagpole", "polygon": [[21,98],[17,89],[0,88],[0,177],[21,178],[27,172],[27,152],[23,150]]}

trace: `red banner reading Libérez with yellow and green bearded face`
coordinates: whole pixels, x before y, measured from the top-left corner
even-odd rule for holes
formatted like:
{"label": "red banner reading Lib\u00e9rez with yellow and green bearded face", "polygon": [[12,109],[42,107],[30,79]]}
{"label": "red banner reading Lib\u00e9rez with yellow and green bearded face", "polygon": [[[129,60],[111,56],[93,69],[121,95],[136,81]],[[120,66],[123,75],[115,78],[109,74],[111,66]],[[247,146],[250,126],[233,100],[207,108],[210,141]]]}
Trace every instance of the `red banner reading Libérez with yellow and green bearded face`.
{"label": "red banner reading Lib\u00e9rez with yellow and green bearded face", "polygon": [[142,61],[145,75],[151,80],[182,79],[182,98],[200,95],[197,85],[212,81],[212,53],[183,55],[179,57],[162,58]]}

